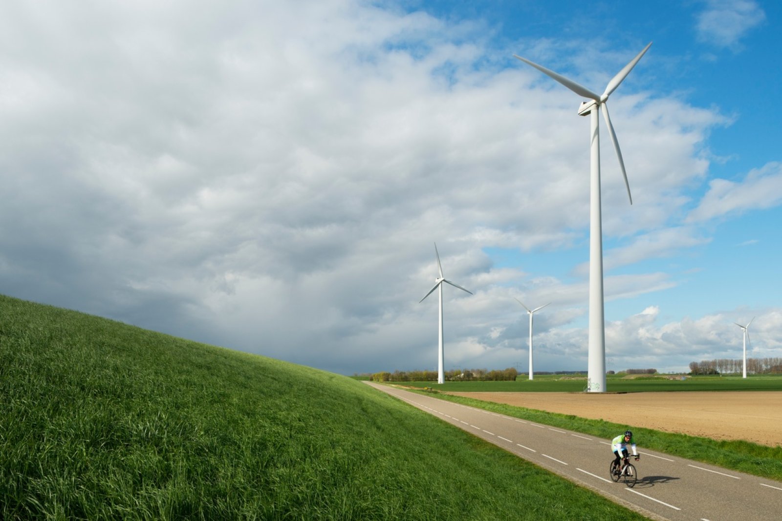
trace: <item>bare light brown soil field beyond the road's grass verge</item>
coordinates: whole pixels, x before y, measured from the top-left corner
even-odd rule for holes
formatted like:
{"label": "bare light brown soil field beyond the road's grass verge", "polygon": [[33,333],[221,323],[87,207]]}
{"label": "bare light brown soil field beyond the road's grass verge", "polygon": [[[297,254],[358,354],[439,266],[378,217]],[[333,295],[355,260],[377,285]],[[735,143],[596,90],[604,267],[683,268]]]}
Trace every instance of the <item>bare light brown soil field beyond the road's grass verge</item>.
{"label": "bare light brown soil field beyond the road's grass verge", "polygon": [[[448,393],[612,423],[782,445],[782,392]],[[617,433],[619,434],[619,433]]]}

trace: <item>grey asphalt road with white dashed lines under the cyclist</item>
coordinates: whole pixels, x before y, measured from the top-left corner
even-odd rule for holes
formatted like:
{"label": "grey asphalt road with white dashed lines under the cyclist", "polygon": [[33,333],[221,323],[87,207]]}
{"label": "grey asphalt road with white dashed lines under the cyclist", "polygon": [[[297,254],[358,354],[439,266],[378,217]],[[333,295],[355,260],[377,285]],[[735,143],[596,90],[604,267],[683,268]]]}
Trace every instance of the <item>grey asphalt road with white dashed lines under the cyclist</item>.
{"label": "grey asphalt road with white dashed lines under the cyclist", "polygon": [[778,481],[648,451],[644,441],[637,440],[641,459],[633,465],[638,481],[630,488],[608,476],[613,459],[608,440],[367,384],[651,519],[782,519],[782,483]]}

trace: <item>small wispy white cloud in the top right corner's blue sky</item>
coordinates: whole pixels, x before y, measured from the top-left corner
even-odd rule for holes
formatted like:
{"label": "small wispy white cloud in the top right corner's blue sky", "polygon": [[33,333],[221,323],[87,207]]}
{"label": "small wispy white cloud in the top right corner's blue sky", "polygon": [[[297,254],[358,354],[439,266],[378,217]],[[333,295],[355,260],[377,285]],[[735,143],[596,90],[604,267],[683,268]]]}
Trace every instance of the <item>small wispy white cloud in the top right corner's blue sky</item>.
{"label": "small wispy white cloud in the top right corner's blue sky", "polygon": [[698,14],[698,40],[737,49],[741,37],[765,20],[766,13],[754,0],[707,0]]}

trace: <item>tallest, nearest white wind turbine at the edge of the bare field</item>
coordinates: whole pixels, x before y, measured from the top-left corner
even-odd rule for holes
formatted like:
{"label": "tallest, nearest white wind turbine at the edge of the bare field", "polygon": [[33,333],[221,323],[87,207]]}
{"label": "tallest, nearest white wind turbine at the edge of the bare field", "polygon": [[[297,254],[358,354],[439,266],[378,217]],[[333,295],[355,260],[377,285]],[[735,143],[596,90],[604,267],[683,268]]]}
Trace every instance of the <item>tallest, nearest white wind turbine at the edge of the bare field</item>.
{"label": "tallest, nearest white wind turbine at the edge of the bare field", "polygon": [[614,144],[616,157],[619,159],[619,167],[622,169],[622,176],[625,178],[627,187],[627,196],[630,198],[630,204],[633,204],[633,196],[630,194],[630,183],[627,180],[625,171],[625,162],[622,160],[622,152],[619,150],[619,141],[616,140],[614,127],[611,124],[611,117],[608,116],[608,96],[619,87],[622,80],[633,70],[641,56],[647,52],[651,46],[651,41],[644,47],[644,50],[628,63],[624,69],[620,70],[602,95],[597,95],[587,87],[582,87],[573,80],[548,70],[529,59],[516,56],[522,62],[528,63],[540,72],[554,78],[559,83],[568,87],[583,98],[590,98],[588,102],[582,102],[579,107],[579,116],[590,115],[590,261],[589,261],[589,362],[587,372],[587,392],[605,392],[605,320],[604,320],[604,300],[603,300],[603,230],[601,223],[601,202],[600,202],[600,125],[597,112],[603,108],[603,117],[608,126],[608,134]]}

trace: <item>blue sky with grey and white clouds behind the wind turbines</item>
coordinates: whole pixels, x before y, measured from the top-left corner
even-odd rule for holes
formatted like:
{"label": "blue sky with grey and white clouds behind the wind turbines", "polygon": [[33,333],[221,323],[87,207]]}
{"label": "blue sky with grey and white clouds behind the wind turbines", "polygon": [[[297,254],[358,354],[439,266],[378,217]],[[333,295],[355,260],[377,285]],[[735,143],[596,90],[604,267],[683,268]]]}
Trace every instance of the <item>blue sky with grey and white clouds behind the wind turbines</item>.
{"label": "blue sky with grey and white clouds behind the wind turbines", "polygon": [[[0,4],[0,293],[334,373],[782,356],[782,4]],[[2,320],[2,317],[0,317]]]}

